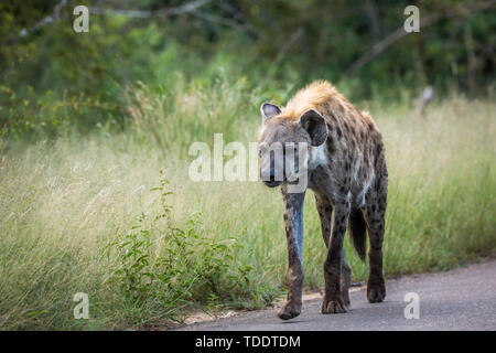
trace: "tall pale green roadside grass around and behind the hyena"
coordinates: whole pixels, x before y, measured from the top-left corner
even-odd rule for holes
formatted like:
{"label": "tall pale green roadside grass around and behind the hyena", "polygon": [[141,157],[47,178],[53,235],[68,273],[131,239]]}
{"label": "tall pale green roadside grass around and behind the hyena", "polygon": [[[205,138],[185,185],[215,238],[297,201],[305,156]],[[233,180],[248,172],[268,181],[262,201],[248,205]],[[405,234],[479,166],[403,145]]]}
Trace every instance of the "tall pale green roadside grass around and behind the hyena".
{"label": "tall pale green roadside grass around and behind the hyena", "polygon": [[[273,95],[283,101],[288,92]],[[262,308],[283,293],[280,192],[187,178],[191,142],[212,143],[214,132],[255,141],[268,98],[242,82],[137,86],[126,131],[3,147],[0,328],[168,325],[191,309]],[[424,117],[405,104],[369,108],[390,175],[386,275],[449,269],[494,250],[495,104],[453,97]],[[367,265],[347,239],[346,248],[354,280],[365,279]],[[323,285],[324,258],[309,192],[310,288]],[[89,320],[73,318],[76,292],[89,296]]]}

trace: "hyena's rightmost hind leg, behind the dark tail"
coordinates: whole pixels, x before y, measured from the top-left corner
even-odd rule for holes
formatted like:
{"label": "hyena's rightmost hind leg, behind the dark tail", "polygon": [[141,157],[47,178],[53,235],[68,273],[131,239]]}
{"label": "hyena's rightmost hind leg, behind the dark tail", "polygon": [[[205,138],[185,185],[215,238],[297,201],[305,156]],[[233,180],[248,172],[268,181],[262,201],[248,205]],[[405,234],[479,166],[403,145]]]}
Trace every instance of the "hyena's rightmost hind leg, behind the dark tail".
{"label": "hyena's rightmost hind leg, behind the dark tail", "polygon": [[369,302],[381,302],[386,298],[386,284],[382,274],[382,242],[387,205],[387,176],[377,180],[375,188],[367,194],[364,212],[370,240],[368,261],[370,274],[367,282]]}

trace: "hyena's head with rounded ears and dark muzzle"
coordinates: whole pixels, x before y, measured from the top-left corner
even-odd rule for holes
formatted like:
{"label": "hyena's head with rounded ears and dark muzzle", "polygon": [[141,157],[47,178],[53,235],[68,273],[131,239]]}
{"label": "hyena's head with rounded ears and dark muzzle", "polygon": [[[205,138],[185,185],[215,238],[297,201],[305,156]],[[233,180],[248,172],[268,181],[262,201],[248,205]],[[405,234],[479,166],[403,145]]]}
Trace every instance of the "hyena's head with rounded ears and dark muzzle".
{"label": "hyena's head with rounded ears and dark muzzle", "polygon": [[300,117],[285,116],[278,106],[269,103],[261,105],[260,113],[261,180],[270,188],[288,181],[296,182],[308,172],[311,149],[323,145],[327,138],[324,118],[313,109]]}

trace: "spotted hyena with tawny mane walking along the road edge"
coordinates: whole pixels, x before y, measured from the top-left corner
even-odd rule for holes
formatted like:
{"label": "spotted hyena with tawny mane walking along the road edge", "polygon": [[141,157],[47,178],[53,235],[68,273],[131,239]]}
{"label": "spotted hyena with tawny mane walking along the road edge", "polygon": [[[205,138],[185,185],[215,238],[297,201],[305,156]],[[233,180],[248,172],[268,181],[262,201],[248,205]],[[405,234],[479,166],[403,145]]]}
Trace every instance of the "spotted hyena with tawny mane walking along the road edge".
{"label": "spotted hyena with tawny mane walking along the road edge", "polygon": [[[365,233],[368,233],[367,298],[369,302],[382,301],[386,297],[382,238],[388,171],[382,136],[373,118],[355,108],[327,82],[312,83],[283,108],[265,103],[260,110],[263,120],[258,140],[260,173],[268,186],[281,185],[285,204],[289,291],[287,302],[278,312],[279,318],[288,320],[301,312],[305,189],[311,189],[315,195],[327,247],[322,313],[346,312],[351,304],[352,268],[343,246],[347,226],[363,260],[366,256]],[[282,158],[269,148],[273,145],[284,147]],[[288,151],[295,156],[292,159],[298,163],[291,163]],[[291,192],[290,188],[302,176],[308,179],[306,188]]]}

